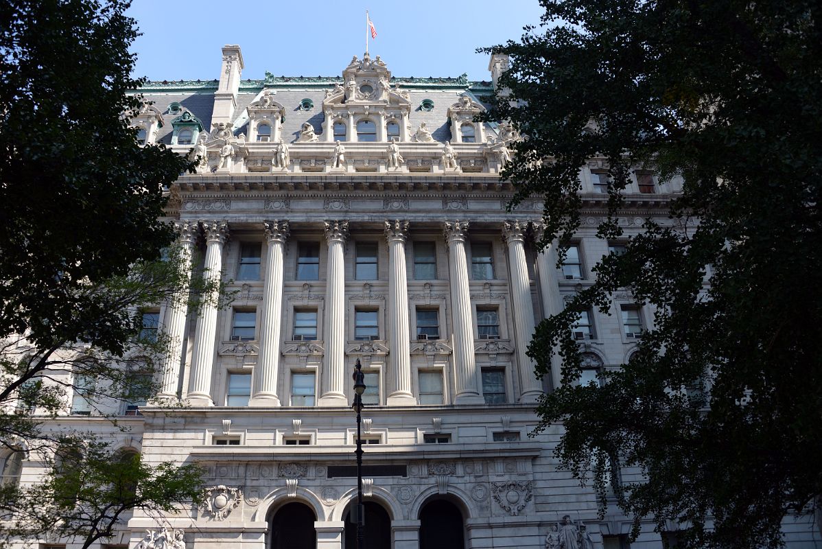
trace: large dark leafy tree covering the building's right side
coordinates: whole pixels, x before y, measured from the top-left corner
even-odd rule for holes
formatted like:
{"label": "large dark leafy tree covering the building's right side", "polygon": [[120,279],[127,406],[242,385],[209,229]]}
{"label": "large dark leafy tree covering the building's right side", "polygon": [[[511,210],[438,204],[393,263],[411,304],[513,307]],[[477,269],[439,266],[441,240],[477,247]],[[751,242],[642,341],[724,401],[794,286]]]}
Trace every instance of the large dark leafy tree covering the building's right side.
{"label": "large dark leafy tree covering the building's right side", "polygon": [[[542,4],[541,28],[483,50],[510,56],[487,120],[525,137],[502,175],[515,202],[544,198],[541,244],[580,226],[589,158],[610,169],[599,238],[623,237],[631,170],[683,182],[667,222],[647,219],[538,326],[529,353],[545,374],[556,349],[564,382],[542,426],[564,425],[561,463],[601,493],[608,458],[641,468],[613,482],[634,533],[650,517],[690,547],[777,547],[822,493],[820,4]],[[653,329],[602,386],[572,383],[570,324],[625,288],[656,307]]]}

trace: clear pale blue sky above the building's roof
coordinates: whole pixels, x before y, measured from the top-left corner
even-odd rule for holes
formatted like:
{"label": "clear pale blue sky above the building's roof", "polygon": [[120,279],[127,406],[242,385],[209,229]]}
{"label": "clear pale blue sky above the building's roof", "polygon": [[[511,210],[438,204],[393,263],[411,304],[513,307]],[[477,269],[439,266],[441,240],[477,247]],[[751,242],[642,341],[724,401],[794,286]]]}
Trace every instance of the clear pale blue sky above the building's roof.
{"label": "clear pale blue sky above the building's roof", "polygon": [[219,77],[220,48],[239,44],[242,78],[334,76],[365,51],[365,11],[379,54],[395,76],[459,76],[490,80],[481,46],[519,39],[543,13],[537,0],[134,0],[130,14],[143,35],[135,76],[150,80]]}

